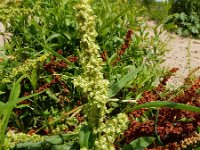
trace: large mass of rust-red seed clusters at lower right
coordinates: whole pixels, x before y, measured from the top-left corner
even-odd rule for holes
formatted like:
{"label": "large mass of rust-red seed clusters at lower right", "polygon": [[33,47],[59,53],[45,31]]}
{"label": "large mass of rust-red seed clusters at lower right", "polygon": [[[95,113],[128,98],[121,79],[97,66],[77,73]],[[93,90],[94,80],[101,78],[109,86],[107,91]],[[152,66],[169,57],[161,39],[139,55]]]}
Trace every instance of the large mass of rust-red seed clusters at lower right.
{"label": "large mass of rust-red seed clusters at lower right", "polygon": [[[177,69],[173,69],[170,72],[173,73],[175,71],[177,71]],[[164,86],[169,77],[170,74],[160,82],[155,90],[144,92],[143,97],[138,103],[143,104],[150,101],[162,100],[159,93],[164,91]],[[200,89],[200,78],[197,79],[190,88],[186,89],[183,94],[172,98],[170,101],[200,107],[200,92],[198,92],[198,89]],[[148,120],[144,122],[135,120],[135,118],[141,117],[145,112],[146,109],[140,109],[129,114],[130,125],[128,130],[124,132],[126,143],[130,143],[141,136],[155,135],[155,115],[150,116]],[[185,121],[183,121],[183,119],[185,119]],[[179,149],[180,141],[185,138],[190,138],[199,125],[199,113],[160,108],[156,130],[165,146],[159,146],[159,144],[155,142],[149,149]]]}

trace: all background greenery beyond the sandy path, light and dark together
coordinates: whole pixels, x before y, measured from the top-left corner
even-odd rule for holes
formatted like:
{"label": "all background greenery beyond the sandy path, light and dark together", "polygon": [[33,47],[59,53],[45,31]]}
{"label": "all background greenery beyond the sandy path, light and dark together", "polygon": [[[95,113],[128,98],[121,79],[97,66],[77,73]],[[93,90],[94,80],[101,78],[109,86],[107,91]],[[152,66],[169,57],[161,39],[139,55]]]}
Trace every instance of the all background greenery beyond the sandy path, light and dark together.
{"label": "all background greenery beyond the sandy path, light and dark together", "polygon": [[198,0],[143,0],[145,16],[163,23],[169,31],[181,36],[199,38],[200,3]]}

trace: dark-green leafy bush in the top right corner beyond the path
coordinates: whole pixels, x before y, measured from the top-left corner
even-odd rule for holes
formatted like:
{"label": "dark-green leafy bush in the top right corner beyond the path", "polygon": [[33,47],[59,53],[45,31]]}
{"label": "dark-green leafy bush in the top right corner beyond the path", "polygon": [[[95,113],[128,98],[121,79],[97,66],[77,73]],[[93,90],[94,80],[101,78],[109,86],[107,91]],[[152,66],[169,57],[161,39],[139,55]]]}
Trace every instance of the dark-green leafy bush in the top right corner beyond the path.
{"label": "dark-green leafy bush in the top right corner beyond the path", "polygon": [[171,16],[167,23],[177,25],[176,32],[182,36],[199,38],[200,32],[200,2],[198,0],[174,1],[170,9]]}

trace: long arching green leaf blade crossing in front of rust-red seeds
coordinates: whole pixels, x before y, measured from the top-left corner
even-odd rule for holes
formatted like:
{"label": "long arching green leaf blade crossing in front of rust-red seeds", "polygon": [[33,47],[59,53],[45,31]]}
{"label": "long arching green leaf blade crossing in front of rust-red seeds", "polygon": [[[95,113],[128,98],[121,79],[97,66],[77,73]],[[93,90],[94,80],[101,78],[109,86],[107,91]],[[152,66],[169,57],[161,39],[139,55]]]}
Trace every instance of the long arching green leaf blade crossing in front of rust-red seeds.
{"label": "long arching green leaf blade crossing in front of rust-red seeds", "polygon": [[144,104],[135,106],[133,109],[131,109],[131,111],[138,110],[141,108],[151,108],[151,107],[167,107],[167,108],[181,109],[181,110],[187,110],[187,111],[200,113],[199,107],[182,104],[182,103],[167,102],[167,101],[155,101],[155,102],[144,103]]}

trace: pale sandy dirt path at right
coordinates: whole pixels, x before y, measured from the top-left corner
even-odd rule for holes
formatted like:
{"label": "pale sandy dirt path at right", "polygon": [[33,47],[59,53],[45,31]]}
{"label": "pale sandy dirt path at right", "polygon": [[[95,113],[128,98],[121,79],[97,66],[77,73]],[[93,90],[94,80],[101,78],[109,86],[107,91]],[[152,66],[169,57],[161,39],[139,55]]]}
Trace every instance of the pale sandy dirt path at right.
{"label": "pale sandy dirt path at right", "polygon": [[[179,68],[179,71],[172,77],[175,86],[181,85],[190,71],[200,67],[200,40],[184,38],[178,35],[169,34],[170,40],[167,44],[169,52],[166,53],[166,61],[163,66]],[[194,73],[200,76],[200,69]]]}

